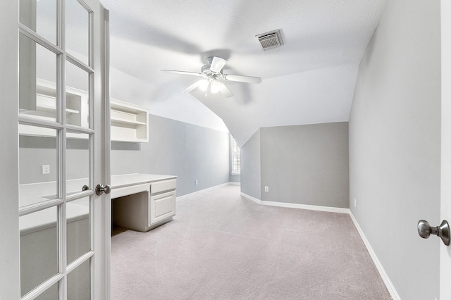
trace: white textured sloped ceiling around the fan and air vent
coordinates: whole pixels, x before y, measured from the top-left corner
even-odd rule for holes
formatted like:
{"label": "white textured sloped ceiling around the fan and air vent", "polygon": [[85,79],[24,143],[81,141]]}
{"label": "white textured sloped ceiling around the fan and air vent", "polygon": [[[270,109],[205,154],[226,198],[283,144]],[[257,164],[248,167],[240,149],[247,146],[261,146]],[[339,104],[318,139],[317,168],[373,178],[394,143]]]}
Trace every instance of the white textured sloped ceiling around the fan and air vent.
{"label": "white textured sloped ceiling around the fan and air vent", "polygon": [[[347,121],[359,62],[387,0],[101,0],[110,11],[111,95],[183,122],[230,130],[242,146],[259,127]],[[262,51],[255,35],[280,30],[284,45]],[[232,98],[180,92],[207,56]],[[224,123],[226,125],[224,125]],[[227,127],[226,127],[227,126]]]}

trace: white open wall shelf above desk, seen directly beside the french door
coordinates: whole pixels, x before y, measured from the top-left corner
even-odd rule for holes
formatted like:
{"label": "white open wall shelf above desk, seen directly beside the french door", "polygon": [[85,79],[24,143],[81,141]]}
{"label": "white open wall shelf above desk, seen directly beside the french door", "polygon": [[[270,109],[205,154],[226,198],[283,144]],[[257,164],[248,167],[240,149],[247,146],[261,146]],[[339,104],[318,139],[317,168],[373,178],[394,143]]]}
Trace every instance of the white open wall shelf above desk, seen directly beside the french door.
{"label": "white open wall shelf above desk, seen directly beside the french door", "polygon": [[149,142],[149,113],[146,108],[111,99],[111,141]]}

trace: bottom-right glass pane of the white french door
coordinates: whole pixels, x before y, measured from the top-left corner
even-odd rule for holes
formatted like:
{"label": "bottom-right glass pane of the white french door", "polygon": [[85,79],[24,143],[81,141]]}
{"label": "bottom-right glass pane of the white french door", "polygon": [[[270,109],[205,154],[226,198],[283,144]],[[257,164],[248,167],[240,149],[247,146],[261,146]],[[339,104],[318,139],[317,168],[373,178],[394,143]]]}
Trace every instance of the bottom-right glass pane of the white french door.
{"label": "bottom-right glass pane of the white french door", "polygon": [[91,259],[68,274],[68,300],[91,299]]}

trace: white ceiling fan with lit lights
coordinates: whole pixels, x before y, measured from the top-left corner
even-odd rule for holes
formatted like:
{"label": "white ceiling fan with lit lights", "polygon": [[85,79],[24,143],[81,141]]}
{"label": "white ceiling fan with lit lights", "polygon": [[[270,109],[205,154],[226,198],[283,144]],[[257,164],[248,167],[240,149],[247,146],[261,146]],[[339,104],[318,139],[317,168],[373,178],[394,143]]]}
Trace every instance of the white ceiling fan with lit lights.
{"label": "white ceiling fan with lit lights", "polygon": [[182,93],[191,92],[193,89],[199,87],[199,89],[205,91],[205,96],[206,91],[208,90],[210,90],[211,93],[221,92],[221,94],[223,94],[227,98],[233,96],[233,93],[230,91],[230,89],[228,89],[228,87],[224,85],[223,80],[247,83],[261,82],[260,77],[223,74],[223,68],[224,65],[226,65],[226,60],[224,58],[218,56],[209,56],[206,58],[206,61],[207,64],[202,66],[200,73],[178,70],[161,70],[161,72],[204,77],[203,79],[194,82],[194,84],[184,89]]}

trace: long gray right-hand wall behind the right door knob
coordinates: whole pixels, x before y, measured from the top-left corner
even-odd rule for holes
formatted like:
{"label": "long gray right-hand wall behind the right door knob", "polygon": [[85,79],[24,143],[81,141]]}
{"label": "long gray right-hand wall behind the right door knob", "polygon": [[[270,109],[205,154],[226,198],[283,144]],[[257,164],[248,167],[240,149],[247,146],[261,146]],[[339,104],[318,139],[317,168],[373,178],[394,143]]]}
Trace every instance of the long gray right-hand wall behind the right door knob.
{"label": "long gray right-hand wall behind the right door knob", "polygon": [[438,299],[440,241],[416,224],[441,222],[440,1],[388,1],[362,58],[350,206],[400,298]]}

